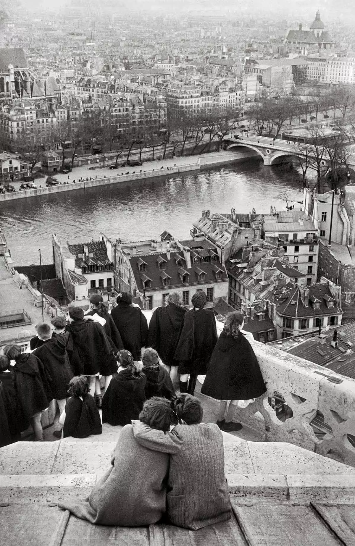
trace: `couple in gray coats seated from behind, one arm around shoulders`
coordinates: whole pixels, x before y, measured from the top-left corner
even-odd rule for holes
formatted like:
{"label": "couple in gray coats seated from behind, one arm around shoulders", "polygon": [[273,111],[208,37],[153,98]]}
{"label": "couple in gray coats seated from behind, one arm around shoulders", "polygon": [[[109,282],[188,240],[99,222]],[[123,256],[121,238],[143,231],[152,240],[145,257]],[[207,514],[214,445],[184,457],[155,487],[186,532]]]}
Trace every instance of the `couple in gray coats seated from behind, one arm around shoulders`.
{"label": "couple in gray coats seated from behind, one arm around shoulders", "polygon": [[202,417],[199,400],[188,394],[174,402],[147,400],[139,420],[121,430],[113,466],[91,495],[58,506],[99,525],[164,521],[197,530],[228,520],[222,433],[215,424],[201,423]]}

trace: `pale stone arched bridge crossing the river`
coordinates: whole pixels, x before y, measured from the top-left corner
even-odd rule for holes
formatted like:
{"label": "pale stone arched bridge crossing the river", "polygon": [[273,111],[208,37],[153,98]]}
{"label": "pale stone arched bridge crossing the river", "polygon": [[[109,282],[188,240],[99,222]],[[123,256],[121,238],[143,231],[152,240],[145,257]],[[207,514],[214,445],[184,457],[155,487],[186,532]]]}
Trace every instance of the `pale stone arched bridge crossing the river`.
{"label": "pale stone arched bridge crossing the river", "polygon": [[[263,158],[264,165],[280,163],[283,157],[298,157],[300,155],[301,146],[299,143],[258,135],[238,135],[238,138],[234,138],[233,135],[228,135],[224,137],[223,143],[226,150],[232,150],[236,147],[245,147],[254,150]],[[329,163],[325,154],[324,156],[322,167],[326,167]],[[348,158],[348,164],[355,164],[355,157],[353,155]]]}

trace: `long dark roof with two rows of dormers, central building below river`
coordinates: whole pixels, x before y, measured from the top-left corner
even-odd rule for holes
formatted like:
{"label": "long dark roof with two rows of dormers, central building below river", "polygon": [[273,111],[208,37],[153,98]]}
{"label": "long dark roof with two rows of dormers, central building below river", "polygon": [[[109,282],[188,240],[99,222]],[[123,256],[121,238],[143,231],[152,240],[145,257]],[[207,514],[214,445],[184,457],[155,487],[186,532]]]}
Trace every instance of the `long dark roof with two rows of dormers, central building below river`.
{"label": "long dark roof with two rows of dormers, central building below river", "polygon": [[[187,287],[189,285],[197,285],[202,283],[215,283],[215,282],[226,282],[228,281],[228,276],[226,270],[219,262],[193,262],[191,259],[191,268],[187,268],[184,252],[170,252],[170,258],[167,254],[162,252],[159,254],[164,260],[165,269],[159,269],[157,255],[156,254],[147,254],[146,256],[134,256],[129,259],[131,263],[135,281],[139,289],[144,288],[143,278],[145,280],[149,279],[151,281],[150,290],[161,290],[164,288],[162,274],[165,273],[164,277],[170,277],[170,287]],[[177,265],[177,257],[182,259],[182,265]],[[145,263],[145,271],[139,270],[139,264]],[[216,280],[216,272],[214,271],[214,266],[218,267],[218,270],[222,271],[222,279]],[[204,281],[199,281],[198,275],[199,271],[203,270],[205,272]],[[181,276],[188,275],[188,283],[182,284]],[[168,288],[168,287],[165,287]]]}

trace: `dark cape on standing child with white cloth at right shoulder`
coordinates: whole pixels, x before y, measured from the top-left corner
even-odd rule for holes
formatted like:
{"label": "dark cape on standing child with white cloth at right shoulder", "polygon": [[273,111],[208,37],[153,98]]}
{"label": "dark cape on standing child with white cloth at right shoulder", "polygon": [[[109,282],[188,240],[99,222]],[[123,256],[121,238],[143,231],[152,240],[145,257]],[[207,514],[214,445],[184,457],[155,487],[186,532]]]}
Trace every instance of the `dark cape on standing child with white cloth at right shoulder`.
{"label": "dark cape on standing child with white cloth at right shoulder", "polygon": [[[93,321],[74,321],[67,326],[72,347],[67,346],[70,366],[75,375],[96,375],[103,370],[113,354],[111,342],[101,324]],[[113,372],[102,373],[110,375]]]}

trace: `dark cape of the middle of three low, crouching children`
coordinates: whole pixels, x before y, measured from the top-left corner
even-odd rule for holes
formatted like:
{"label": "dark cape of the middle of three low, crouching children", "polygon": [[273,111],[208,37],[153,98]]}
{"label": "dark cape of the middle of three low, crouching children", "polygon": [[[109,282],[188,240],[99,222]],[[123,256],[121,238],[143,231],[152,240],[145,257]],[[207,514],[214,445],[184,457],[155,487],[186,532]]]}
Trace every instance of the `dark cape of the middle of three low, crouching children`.
{"label": "dark cape of the middle of three low, crouching children", "polygon": [[102,422],[123,426],[138,419],[146,400],[145,384],[143,373],[134,377],[129,370],[122,370],[114,376],[102,399]]}

